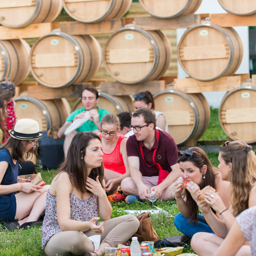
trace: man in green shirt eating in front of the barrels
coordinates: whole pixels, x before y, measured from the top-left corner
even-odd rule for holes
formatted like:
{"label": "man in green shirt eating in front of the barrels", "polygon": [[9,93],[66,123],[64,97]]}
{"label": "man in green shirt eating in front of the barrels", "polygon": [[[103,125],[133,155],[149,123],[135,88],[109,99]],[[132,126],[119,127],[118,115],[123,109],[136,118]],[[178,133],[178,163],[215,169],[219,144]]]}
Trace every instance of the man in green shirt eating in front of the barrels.
{"label": "man in green shirt eating in front of the barrels", "polygon": [[109,113],[106,109],[101,109],[96,106],[96,104],[99,102],[99,94],[94,87],[86,86],[81,93],[81,99],[84,108],[76,109],[67,117],[65,124],[63,124],[58,131],[58,137],[63,138],[65,136],[64,132],[68,126],[72,124],[76,118],[84,117],[84,113],[86,111],[89,112],[91,117],[76,130],[65,136],[63,144],[65,158],[67,156],[68,147],[71,143],[71,140],[76,135],[76,133],[89,131],[96,133],[100,132],[100,121],[104,115]]}

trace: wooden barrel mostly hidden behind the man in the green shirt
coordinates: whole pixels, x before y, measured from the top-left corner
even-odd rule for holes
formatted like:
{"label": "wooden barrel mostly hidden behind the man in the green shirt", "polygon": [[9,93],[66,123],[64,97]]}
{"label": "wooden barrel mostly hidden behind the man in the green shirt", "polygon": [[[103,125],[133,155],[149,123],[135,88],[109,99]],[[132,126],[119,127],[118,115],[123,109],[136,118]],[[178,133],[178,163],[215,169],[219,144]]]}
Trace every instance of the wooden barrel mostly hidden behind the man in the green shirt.
{"label": "wooden barrel mostly hidden behind the man in the green shirt", "polygon": [[[99,92],[99,103],[97,106],[99,108],[104,108],[108,110],[110,113],[115,113],[118,115],[124,111],[132,113],[134,111],[133,101],[131,96],[123,95],[123,96],[112,96],[106,92]],[[81,102],[81,98],[79,98],[72,107],[71,112],[76,109],[84,108]]]}

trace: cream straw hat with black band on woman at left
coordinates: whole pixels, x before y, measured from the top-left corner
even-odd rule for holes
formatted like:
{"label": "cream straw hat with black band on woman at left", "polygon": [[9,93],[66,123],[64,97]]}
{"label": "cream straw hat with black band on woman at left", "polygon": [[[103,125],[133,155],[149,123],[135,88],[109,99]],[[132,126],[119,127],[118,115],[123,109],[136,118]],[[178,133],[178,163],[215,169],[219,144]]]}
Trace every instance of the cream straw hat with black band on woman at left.
{"label": "cream straw hat with black band on woman at left", "polygon": [[10,134],[18,140],[36,140],[43,136],[43,133],[39,132],[38,122],[29,118],[18,120]]}

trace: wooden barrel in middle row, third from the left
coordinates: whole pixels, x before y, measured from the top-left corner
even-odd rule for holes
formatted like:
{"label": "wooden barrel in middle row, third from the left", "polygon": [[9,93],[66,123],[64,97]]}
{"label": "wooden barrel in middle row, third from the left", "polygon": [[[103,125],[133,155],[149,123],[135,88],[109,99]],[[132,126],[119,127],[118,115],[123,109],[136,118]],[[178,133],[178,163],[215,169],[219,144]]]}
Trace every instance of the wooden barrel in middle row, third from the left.
{"label": "wooden barrel in middle row, third from the left", "polygon": [[116,30],[103,49],[109,75],[124,84],[159,79],[169,67],[171,44],[160,30],[133,26]]}

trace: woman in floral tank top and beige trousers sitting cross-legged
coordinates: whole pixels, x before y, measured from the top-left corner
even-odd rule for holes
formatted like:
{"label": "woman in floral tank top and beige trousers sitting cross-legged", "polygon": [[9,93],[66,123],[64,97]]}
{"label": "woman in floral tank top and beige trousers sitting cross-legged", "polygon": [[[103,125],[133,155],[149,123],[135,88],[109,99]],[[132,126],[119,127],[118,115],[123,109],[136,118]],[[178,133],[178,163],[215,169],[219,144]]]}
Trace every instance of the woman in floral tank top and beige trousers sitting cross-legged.
{"label": "woman in floral tank top and beige trousers sitting cross-legged", "polygon": [[133,215],[110,219],[102,156],[95,133],[79,132],[72,139],[46,196],[42,227],[46,255],[98,256],[105,247],[117,247],[137,231],[139,221]]}

